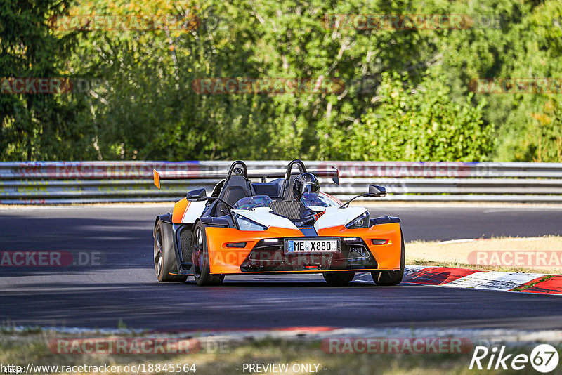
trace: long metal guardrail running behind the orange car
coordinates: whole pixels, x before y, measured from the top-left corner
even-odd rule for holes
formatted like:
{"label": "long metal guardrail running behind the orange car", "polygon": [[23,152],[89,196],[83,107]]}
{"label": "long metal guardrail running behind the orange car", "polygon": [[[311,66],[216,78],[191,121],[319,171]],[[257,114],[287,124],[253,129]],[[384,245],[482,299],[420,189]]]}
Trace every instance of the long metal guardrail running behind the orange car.
{"label": "long metal guardrail running behind the orange car", "polygon": [[[285,169],[289,161],[247,162],[248,169]],[[226,171],[231,162],[1,162],[0,204],[170,202],[209,180],[152,184],[152,170]],[[340,199],[377,183],[391,201],[562,202],[562,163],[305,162],[340,171],[338,187],[322,191]]]}

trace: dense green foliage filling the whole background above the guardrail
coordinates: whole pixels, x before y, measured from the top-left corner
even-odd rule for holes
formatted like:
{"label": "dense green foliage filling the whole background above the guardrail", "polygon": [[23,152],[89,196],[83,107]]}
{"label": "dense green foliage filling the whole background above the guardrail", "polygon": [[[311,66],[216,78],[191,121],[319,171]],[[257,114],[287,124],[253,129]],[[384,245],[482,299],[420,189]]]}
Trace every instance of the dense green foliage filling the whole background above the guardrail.
{"label": "dense green foliage filling the whole background above the guardrail", "polygon": [[[331,27],[334,14],[471,22]],[[189,22],[54,27],[64,15]],[[0,93],[0,160],[562,162],[562,95],[471,91],[479,77],[560,78],[561,37],[558,0],[0,0],[0,77],[74,82],[70,93]],[[213,77],[344,86],[199,93]]]}

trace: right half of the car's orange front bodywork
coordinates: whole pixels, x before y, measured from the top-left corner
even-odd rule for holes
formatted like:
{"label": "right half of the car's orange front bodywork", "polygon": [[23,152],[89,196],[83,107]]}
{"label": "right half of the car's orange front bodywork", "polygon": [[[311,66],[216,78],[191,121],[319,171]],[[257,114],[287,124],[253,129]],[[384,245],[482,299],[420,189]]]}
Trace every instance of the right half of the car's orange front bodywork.
{"label": "right half of the car's orange front bodywork", "polygon": [[[344,225],[324,228],[318,231],[322,237],[361,237],[367,247],[377,259],[379,270],[393,270],[400,268],[400,254],[402,253],[402,238],[400,224],[388,223],[373,225],[370,228],[348,229]],[[371,239],[388,239],[384,245],[374,245]]]}

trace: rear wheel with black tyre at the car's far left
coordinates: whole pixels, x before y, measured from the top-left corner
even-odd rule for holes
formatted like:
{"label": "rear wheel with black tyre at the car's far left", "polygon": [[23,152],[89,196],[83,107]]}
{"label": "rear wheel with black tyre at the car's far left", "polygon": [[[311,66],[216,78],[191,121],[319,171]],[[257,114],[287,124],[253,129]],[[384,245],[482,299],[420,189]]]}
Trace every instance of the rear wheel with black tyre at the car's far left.
{"label": "rear wheel with black tyre at the car's far left", "polygon": [[154,229],[154,271],[159,282],[185,282],[187,276],[170,275],[178,272],[174,245],[166,243],[162,221]]}

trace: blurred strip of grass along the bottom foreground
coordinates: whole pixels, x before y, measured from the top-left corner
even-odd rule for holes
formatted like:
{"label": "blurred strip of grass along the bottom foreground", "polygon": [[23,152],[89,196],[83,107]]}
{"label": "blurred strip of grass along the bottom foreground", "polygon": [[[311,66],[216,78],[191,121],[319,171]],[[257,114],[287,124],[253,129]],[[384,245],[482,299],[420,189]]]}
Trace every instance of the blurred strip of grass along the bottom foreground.
{"label": "blurred strip of grass along the bottom foreground", "polygon": [[[98,335],[103,337],[104,335]],[[105,335],[107,336],[107,335]],[[42,331],[35,334],[0,334],[0,362],[3,364],[58,364],[65,366],[115,364],[195,364],[197,375],[242,374],[244,363],[320,364],[319,374],[476,374],[468,369],[471,354],[336,354],[325,353],[319,341],[280,339],[229,342],[226,349],[189,355],[63,355],[51,353],[48,342],[53,338],[70,338]],[[92,336],[86,336],[92,337]],[[121,336],[120,336],[121,337]],[[530,353],[530,348],[509,348],[509,353]],[[236,369],[240,369],[237,371]],[[326,369],[326,370],[323,370]],[[486,374],[535,374],[522,371],[486,371]],[[117,374],[122,374],[118,372]],[[162,374],[165,374],[162,372]],[[247,374],[247,372],[246,372]],[[292,374],[289,371],[289,374]]]}

